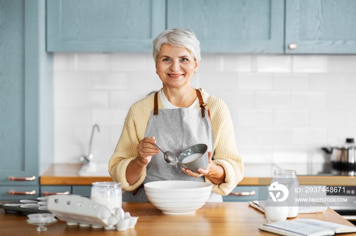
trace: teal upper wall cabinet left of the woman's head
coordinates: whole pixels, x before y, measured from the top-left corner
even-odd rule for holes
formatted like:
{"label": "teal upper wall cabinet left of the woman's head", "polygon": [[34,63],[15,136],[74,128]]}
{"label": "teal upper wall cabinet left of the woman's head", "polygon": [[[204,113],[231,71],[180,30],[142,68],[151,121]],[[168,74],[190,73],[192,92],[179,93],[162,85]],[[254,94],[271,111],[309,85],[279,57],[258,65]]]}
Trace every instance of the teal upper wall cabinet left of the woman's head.
{"label": "teal upper wall cabinet left of the woman's head", "polygon": [[47,0],[47,51],[152,52],[162,0]]}

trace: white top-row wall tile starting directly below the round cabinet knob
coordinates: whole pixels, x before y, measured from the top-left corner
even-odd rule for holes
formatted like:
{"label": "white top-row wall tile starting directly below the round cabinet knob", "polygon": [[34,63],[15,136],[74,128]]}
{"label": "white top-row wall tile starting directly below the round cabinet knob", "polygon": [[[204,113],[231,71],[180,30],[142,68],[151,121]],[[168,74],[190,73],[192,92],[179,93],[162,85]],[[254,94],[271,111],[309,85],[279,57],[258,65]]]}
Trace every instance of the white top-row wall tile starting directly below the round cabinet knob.
{"label": "white top-row wall tile starting directly below the round cabinet knob", "polygon": [[295,55],[292,57],[292,72],[326,73],[328,72],[328,56]]}

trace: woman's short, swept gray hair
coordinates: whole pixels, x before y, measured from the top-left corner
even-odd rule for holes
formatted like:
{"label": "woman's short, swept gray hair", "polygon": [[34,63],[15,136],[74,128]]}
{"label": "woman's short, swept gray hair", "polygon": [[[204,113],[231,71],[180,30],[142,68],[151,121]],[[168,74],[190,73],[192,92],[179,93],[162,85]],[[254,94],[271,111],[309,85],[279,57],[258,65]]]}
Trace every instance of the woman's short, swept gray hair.
{"label": "woman's short, swept gray hair", "polygon": [[166,29],[153,41],[153,58],[157,64],[158,54],[163,44],[170,44],[177,48],[186,48],[196,61],[200,61],[200,42],[193,30],[186,27]]}

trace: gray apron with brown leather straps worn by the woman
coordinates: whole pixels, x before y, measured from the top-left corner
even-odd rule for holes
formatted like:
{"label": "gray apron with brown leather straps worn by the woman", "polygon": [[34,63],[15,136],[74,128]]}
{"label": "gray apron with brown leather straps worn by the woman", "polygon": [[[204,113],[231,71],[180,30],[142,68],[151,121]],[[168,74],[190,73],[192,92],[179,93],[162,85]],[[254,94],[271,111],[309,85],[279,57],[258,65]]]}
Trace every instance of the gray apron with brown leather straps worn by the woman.
{"label": "gray apron with brown leather straps worn by the woman", "polygon": [[[158,93],[158,92],[157,92]],[[208,152],[213,152],[214,137],[209,119],[208,109],[194,108],[158,109],[157,93],[155,94],[155,109],[151,112],[145,137],[154,136],[157,145],[164,151],[171,151],[179,156],[188,147],[195,144],[206,144]],[[200,91],[197,90],[200,104],[203,104]],[[205,104],[204,104],[205,106]],[[202,117],[203,116],[203,117]],[[161,180],[188,180],[204,182],[204,177],[191,177],[182,171],[182,165],[170,165],[160,152],[154,155],[147,165],[147,176],[143,184]],[[125,192],[123,201],[149,201],[144,188]],[[222,202],[222,196],[212,192],[208,201]]]}

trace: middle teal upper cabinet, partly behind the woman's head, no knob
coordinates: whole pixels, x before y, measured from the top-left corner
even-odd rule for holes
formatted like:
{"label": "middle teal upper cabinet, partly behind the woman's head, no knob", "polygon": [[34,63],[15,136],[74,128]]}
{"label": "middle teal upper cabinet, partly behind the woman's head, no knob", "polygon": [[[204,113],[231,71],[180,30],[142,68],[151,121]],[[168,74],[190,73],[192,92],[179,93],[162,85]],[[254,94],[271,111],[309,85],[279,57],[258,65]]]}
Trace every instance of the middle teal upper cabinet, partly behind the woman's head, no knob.
{"label": "middle teal upper cabinet, partly behind the woman's head, no knob", "polygon": [[202,52],[283,53],[283,0],[168,0],[167,28],[189,27]]}

